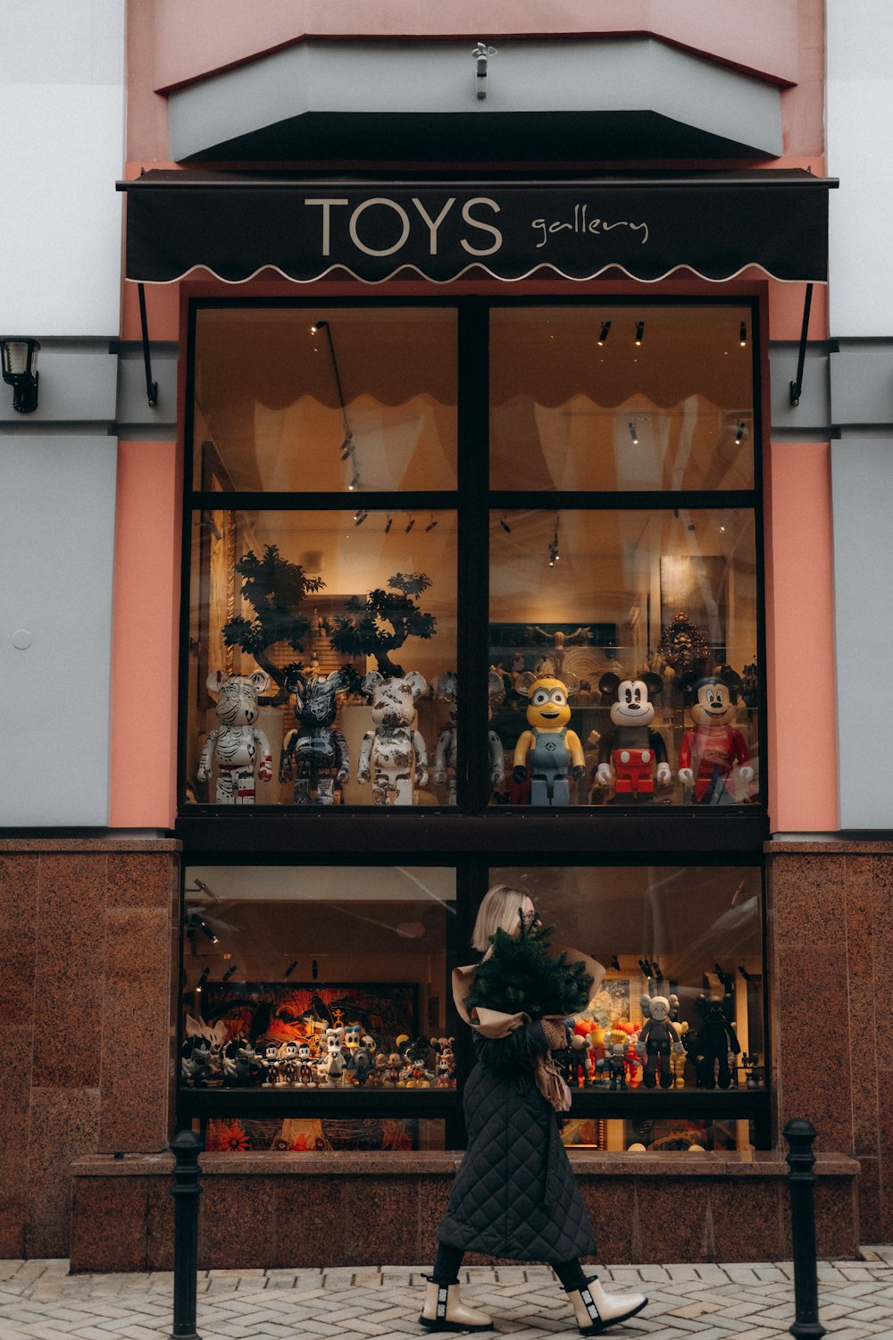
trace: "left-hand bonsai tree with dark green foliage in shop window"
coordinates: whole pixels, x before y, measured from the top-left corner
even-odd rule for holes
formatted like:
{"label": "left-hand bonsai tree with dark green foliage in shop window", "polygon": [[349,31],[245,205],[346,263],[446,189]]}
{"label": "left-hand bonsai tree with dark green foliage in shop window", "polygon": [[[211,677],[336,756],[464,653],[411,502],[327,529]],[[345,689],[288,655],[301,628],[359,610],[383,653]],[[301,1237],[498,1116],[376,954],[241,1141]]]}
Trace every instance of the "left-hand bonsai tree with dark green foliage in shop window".
{"label": "left-hand bonsai tree with dark green foliage in shop window", "polygon": [[253,549],[236,564],[244,578],[242,596],[254,611],[253,619],[236,618],[224,624],[228,647],[241,647],[254,658],[278,686],[278,697],[288,695],[285,681],[295,665],[276,666],[266,649],[276,642],[287,642],[293,651],[304,650],[304,638],[311,620],[300,612],[300,606],[311,591],[321,591],[321,578],[311,578],[300,563],[289,563],[278,552],[278,545],[268,544],[261,557]]}

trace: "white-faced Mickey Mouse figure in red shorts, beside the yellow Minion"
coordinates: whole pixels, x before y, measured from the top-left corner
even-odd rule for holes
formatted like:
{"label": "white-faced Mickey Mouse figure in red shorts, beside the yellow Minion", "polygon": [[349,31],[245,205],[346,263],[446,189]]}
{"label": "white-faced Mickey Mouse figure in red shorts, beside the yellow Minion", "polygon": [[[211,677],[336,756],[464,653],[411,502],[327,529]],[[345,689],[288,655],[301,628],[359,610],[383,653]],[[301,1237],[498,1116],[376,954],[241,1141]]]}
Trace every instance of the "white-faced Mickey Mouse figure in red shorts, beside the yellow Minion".
{"label": "white-faced Mickey Mouse figure in red shorts, beside the yellow Minion", "polygon": [[657,784],[668,787],[671,780],[667,746],[663,736],[651,729],[655,720],[655,698],[663,689],[660,675],[647,670],[637,679],[621,679],[609,671],[598,681],[601,701],[611,706],[613,730],[606,730],[598,741],[596,785],[611,785],[613,768],[615,800],[651,801],[655,793],[652,768],[657,765]]}

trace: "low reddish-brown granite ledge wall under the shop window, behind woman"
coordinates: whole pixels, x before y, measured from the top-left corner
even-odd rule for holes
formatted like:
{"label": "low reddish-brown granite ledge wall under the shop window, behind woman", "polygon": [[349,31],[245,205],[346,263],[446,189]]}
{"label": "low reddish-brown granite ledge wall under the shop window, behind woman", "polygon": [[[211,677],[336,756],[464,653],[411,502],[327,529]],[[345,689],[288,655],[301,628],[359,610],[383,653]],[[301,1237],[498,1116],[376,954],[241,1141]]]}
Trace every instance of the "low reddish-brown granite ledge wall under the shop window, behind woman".
{"label": "low reddish-brown granite ledge wall under the shop window, behind woman", "polygon": [[[777,1154],[570,1155],[605,1264],[790,1258]],[[205,1154],[199,1269],[423,1265],[457,1154]],[[72,1272],[170,1270],[173,1158],[72,1166]],[[817,1162],[817,1245],[858,1256],[858,1163]],[[469,1264],[493,1261],[470,1254]]]}

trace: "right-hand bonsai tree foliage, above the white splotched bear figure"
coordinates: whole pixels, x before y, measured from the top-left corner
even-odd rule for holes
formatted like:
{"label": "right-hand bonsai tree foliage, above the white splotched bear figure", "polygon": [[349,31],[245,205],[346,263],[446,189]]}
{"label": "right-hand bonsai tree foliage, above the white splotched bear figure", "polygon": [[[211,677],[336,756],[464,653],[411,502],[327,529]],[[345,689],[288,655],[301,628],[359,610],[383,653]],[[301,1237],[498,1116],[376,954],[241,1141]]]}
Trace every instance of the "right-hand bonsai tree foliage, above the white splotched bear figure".
{"label": "right-hand bonsai tree foliage, above the white splotched bear figure", "polygon": [[430,586],[424,572],[396,572],[388,578],[390,590],[351,596],[347,614],[332,618],[332,646],[352,659],[375,657],[386,679],[402,679],[403,666],[391,661],[391,653],[407,638],[431,638],[436,628],[434,615],[419,610],[419,596]]}

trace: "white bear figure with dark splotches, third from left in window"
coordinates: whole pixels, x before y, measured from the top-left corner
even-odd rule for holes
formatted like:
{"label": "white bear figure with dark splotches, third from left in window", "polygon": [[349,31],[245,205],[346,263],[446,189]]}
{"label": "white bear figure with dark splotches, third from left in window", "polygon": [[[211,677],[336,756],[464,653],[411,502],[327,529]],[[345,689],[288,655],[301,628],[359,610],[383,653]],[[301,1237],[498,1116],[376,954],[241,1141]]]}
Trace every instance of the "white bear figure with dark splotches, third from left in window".
{"label": "white bear figure with dark splotches, third from left in window", "polygon": [[361,687],[372,699],[375,729],[363,736],[356,780],[372,779],[375,805],[411,805],[412,785],[424,787],[428,780],[424,740],[412,728],[415,704],[428,687],[424,675],[411,670],[403,679],[384,679],[372,671]]}

